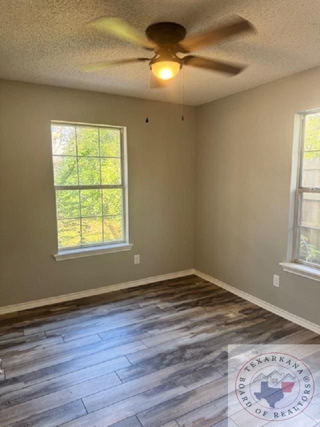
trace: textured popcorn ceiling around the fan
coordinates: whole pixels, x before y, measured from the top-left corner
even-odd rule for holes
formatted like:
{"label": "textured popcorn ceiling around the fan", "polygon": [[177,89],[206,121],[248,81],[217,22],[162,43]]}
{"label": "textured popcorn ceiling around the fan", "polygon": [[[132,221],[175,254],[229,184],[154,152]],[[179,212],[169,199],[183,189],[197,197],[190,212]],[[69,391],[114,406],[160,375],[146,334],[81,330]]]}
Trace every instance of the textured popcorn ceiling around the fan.
{"label": "textured popcorn ceiling around the fan", "polygon": [[[196,54],[247,64],[235,77],[184,69],[184,101],[199,105],[320,65],[319,0],[0,0],[0,78],[146,97],[147,63],[83,73],[89,62],[145,56],[147,51],[85,28],[116,16],[141,32],[175,21],[187,34],[239,15],[257,34],[242,35]],[[150,98],[179,102],[181,73]]]}

